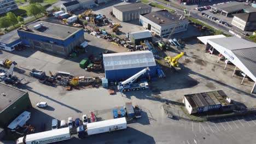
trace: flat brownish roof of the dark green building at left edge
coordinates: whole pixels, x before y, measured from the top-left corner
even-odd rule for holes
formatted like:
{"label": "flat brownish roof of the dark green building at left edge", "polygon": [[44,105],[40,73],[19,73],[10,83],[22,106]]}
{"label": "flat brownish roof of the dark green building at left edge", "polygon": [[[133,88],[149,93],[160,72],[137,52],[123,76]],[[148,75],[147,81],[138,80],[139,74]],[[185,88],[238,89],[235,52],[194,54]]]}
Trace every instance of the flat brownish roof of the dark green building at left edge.
{"label": "flat brownish roof of the dark green building at left edge", "polygon": [[13,104],[26,92],[0,83],[0,112]]}

